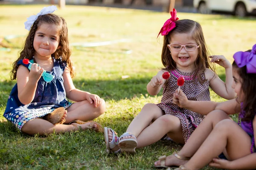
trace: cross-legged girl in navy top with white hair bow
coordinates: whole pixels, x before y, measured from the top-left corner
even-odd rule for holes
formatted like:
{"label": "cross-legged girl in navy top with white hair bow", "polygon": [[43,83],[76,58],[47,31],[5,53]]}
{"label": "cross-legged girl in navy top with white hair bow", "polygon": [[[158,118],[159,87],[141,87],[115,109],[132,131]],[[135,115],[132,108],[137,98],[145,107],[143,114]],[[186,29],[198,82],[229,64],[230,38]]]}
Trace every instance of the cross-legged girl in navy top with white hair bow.
{"label": "cross-legged girl in navy top with white hair bow", "polygon": [[[55,6],[44,7],[25,22],[30,31],[20,57],[13,63],[11,79],[17,79],[17,84],[3,116],[30,135],[61,133],[79,127],[103,131],[96,122],[83,122],[104,113],[105,101],[73,85],[67,23],[51,14],[55,10]],[[67,101],[66,96],[75,103]]]}

